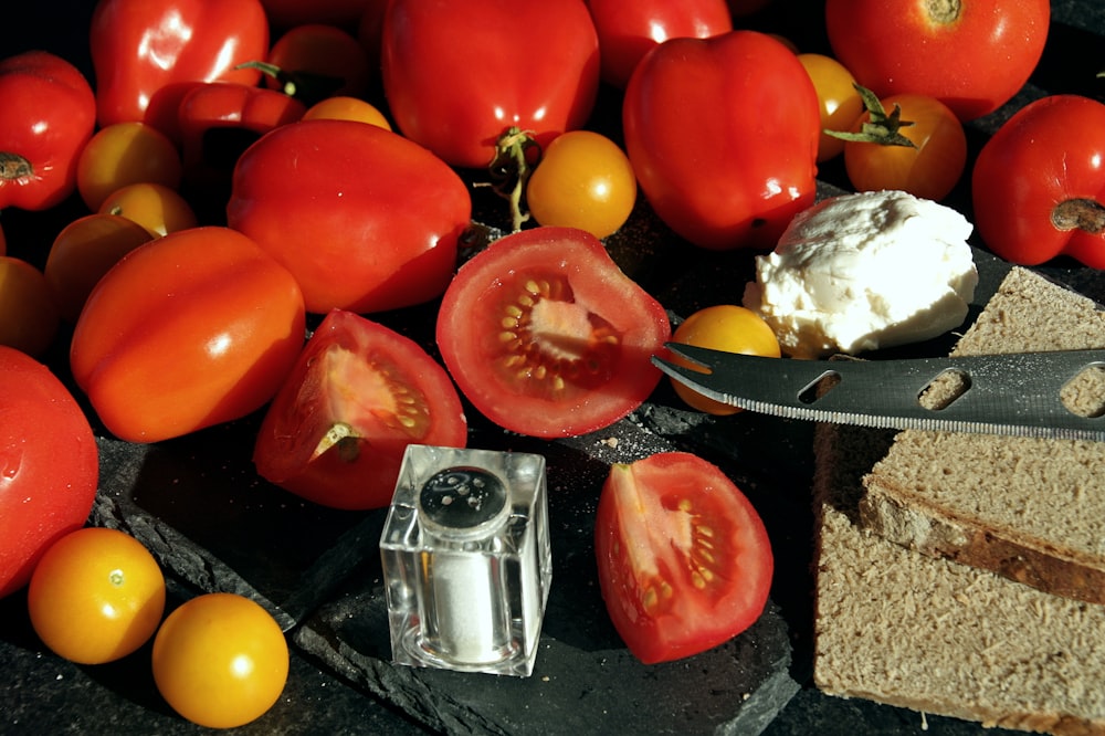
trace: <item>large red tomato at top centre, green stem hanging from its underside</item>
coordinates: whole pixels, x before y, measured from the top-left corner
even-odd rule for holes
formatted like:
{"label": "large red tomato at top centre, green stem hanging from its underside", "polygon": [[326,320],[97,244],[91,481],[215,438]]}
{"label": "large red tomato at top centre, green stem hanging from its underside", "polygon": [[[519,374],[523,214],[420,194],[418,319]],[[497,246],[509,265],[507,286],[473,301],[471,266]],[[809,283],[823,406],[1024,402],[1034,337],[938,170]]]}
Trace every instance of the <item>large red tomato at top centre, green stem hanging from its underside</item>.
{"label": "large red tomato at top centre, green stem hanging from its underside", "polygon": [[452,166],[483,168],[511,127],[545,146],[583,126],[599,41],[582,0],[392,0],[381,64],[403,135]]}

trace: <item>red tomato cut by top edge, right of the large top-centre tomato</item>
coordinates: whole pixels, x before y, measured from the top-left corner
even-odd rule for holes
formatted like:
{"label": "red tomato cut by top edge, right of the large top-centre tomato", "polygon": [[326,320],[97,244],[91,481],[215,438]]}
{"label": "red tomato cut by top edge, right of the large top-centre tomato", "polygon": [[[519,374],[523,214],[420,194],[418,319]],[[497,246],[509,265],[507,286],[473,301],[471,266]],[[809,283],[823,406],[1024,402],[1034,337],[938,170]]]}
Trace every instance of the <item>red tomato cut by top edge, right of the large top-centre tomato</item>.
{"label": "red tomato cut by top edge, right of the large top-centre tomato", "polygon": [[624,90],[646,52],[669,39],[706,39],[733,30],[725,0],[588,0],[602,50],[602,81]]}

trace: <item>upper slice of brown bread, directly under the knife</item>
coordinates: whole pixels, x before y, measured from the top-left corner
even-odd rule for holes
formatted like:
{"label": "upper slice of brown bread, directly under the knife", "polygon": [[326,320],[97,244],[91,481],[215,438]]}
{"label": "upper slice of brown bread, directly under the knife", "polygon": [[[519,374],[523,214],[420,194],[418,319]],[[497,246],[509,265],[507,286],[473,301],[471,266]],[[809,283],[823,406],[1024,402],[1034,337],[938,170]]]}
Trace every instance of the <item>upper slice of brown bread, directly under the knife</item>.
{"label": "upper slice of brown bread, directly under the knife", "polygon": [[[1013,269],[953,355],[1101,347],[1093,301]],[[1101,414],[1105,370],[1076,383],[1064,400]],[[861,521],[888,539],[1105,603],[1105,442],[901,432],[864,485]]]}

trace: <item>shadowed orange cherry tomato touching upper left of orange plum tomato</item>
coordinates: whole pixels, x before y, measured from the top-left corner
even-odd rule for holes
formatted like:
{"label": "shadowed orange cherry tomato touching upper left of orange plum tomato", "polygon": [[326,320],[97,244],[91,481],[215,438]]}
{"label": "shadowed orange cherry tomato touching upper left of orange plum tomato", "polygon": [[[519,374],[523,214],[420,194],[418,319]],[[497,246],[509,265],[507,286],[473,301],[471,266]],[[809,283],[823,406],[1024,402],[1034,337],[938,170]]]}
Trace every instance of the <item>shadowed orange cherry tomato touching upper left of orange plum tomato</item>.
{"label": "shadowed orange cherry tomato touching upper left of orange plum tomato", "polygon": [[76,322],[103,275],[152,239],[146,228],[118,214],[88,214],[65,225],[50,246],[45,266],[61,317]]}

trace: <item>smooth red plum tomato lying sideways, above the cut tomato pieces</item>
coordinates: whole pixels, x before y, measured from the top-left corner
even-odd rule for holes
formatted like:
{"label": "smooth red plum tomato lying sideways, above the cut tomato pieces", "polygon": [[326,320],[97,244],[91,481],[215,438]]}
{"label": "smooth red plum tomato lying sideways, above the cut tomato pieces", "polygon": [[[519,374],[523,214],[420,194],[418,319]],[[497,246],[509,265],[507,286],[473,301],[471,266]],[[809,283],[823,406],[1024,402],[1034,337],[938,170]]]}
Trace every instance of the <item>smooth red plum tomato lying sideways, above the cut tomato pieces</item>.
{"label": "smooth red plum tomato lying sideways, above the cut tomato pieces", "polygon": [[283,263],[318,314],[440,296],[471,217],[467,187],[443,161],[352,120],[304,120],[266,135],[239,159],[227,206],[230,227]]}

